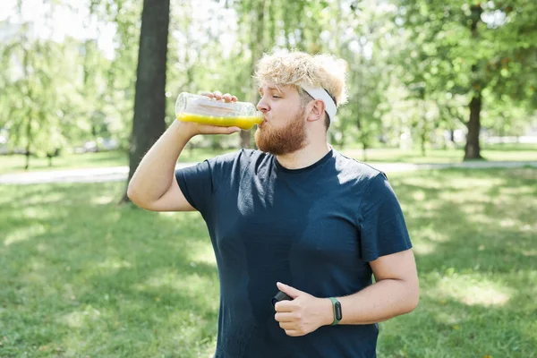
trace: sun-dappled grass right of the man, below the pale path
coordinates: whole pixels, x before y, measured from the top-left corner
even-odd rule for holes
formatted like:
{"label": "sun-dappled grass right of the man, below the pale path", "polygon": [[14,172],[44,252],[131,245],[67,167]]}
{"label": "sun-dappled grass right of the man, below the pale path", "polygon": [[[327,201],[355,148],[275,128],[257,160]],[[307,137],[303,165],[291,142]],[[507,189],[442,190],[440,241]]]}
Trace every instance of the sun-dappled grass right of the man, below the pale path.
{"label": "sun-dappled grass right of the man, below the pale path", "polygon": [[537,356],[536,175],[450,169],[390,179],[413,238],[421,303],[381,324],[380,356]]}

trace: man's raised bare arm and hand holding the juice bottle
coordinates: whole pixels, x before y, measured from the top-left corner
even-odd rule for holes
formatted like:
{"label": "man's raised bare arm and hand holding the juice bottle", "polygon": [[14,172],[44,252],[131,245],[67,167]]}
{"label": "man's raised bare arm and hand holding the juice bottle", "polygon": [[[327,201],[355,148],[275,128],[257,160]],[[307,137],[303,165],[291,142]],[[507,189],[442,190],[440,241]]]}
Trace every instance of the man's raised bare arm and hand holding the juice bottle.
{"label": "man's raised bare arm and hand holding the juice bottle", "polygon": [[[224,98],[227,102],[237,98],[229,94],[222,96],[216,91],[204,95]],[[157,142],[141,159],[132,175],[127,196],[143,209],[153,211],[193,211],[175,179],[175,164],[184,146],[197,134],[231,134],[239,132],[238,127],[218,127],[174,121]]]}

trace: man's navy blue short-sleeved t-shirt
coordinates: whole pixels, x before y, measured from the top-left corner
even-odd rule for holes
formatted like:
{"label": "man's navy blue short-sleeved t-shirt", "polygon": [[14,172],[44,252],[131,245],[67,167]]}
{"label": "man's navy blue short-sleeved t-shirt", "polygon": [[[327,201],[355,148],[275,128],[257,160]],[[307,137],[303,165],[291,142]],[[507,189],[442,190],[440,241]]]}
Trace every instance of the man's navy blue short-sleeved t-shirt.
{"label": "man's navy blue short-sleeved t-shirt", "polygon": [[317,297],[354,294],[372,283],[370,261],[412,247],[386,175],[335,149],[294,170],[241,149],[175,176],[205,219],[216,255],[215,358],[376,356],[378,325],[288,337],[271,298],[277,281]]}

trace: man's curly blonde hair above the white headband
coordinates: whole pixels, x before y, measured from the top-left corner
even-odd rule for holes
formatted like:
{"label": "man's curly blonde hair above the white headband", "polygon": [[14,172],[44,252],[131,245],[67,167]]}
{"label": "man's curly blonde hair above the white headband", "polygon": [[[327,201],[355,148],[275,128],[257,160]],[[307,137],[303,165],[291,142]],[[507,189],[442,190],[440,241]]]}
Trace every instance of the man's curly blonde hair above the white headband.
{"label": "man's curly blonde hair above the white headband", "polygon": [[304,93],[309,96],[302,90],[301,84],[321,87],[328,91],[339,107],[347,100],[346,71],[346,62],[335,56],[291,51],[263,55],[257,64],[254,78],[258,81],[258,85],[267,82],[277,88],[293,86],[301,96]]}

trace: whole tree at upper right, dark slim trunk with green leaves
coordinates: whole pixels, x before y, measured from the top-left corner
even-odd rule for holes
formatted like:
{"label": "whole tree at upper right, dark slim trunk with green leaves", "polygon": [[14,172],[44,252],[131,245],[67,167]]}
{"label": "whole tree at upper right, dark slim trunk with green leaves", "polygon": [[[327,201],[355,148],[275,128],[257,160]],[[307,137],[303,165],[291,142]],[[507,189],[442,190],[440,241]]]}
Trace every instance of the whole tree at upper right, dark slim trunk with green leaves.
{"label": "whole tree at upper right, dark slim trunk with green leaves", "polygon": [[423,82],[426,94],[467,97],[465,160],[482,158],[480,132],[483,93],[498,100],[534,103],[534,2],[401,0],[395,21],[411,34],[400,53],[408,85]]}

